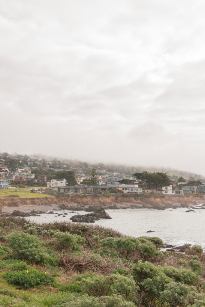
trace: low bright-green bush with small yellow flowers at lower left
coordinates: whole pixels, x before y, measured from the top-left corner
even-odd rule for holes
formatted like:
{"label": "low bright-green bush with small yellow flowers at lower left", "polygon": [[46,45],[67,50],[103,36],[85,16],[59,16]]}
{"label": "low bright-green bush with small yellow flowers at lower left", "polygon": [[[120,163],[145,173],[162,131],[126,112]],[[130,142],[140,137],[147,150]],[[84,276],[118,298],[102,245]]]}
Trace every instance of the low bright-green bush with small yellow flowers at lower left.
{"label": "low bright-green bush with small yellow flowers at lower left", "polygon": [[39,285],[56,286],[55,278],[39,270],[24,270],[16,272],[6,272],[4,278],[11,285],[23,286],[24,288]]}

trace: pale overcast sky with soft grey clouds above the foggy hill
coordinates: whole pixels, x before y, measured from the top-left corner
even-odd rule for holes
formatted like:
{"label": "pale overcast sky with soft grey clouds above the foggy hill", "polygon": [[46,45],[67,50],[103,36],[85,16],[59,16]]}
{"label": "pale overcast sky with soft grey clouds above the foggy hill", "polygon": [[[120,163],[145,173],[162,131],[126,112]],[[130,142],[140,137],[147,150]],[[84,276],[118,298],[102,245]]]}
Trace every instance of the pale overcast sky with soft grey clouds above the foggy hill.
{"label": "pale overcast sky with soft grey clouds above the foggy hill", "polygon": [[0,151],[205,175],[204,0],[0,3]]}

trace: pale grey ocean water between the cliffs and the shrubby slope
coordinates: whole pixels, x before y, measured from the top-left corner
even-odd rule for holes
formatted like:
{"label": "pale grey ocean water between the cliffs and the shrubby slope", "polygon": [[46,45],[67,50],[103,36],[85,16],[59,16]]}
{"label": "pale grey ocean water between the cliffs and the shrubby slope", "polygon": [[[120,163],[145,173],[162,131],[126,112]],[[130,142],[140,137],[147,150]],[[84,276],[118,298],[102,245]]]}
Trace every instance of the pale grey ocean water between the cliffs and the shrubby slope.
{"label": "pale grey ocean water between the cliffs and the shrubby slope", "polygon": [[[134,237],[156,236],[164,243],[183,245],[185,243],[199,244],[205,249],[205,209],[194,209],[195,212],[186,212],[187,208],[177,209],[108,209],[106,212],[112,220],[101,219],[92,225],[101,225],[121,232],[124,235]],[[41,214],[26,219],[37,223],[49,223],[53,221],[70,221],[70,217],[76,215],[69,210],[52,210],[55,213],[67,213],[65,217],[56,214]],[[88,212],[79,211],[81,214]],[[70,221],[71,222],[71,221]],[[86,223],[87,224],[87,223]],[[146,231],[154,231],[146,233]]]}

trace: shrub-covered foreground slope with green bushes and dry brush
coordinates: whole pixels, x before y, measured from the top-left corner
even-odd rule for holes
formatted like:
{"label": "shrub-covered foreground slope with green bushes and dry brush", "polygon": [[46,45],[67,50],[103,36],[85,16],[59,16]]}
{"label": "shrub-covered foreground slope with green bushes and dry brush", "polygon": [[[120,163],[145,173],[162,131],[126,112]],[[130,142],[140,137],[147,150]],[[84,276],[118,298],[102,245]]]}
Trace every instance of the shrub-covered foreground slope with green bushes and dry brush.
{"label": "shrub-covered foreground slope with green bushes and dry brush", "polygon": [[0,217],[1,307],[203,307],[200,246],[77,223]]}

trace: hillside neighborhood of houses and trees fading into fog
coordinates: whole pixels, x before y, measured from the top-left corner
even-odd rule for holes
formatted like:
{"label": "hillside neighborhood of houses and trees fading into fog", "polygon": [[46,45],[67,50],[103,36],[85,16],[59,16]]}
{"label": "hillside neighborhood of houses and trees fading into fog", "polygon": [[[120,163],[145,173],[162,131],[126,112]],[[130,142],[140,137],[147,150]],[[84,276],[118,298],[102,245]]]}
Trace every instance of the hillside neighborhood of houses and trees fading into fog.
{"label": "hillside neighborhood of houses and trees fading into fog", "polygon": [[[92,170],[96,175],[93,182],[90,181]],[[0,189],[12,186],[38,186],[42,187],[40,192],[53,190],[68,194],[103,191],[138,194],[156,192],[168,195],[183,195],[187,192],[205,194],[205,183],[200,180],[201,175],[187,180],[183,177],[169,176],[169,184],[154,188],[149,183],[145,186],[141,176],[136,176],[140,174],[135,173],[136,169],[130,168],[126,171],[124,168],[124,172],[122,170],[108,169],[102,163],[89,165],[81,161],[0,153]],[[61,174],[69,174],[72,180],[66,180],[63,176],[58,178]],[[183,181],[180,182],[180,179]]]}

